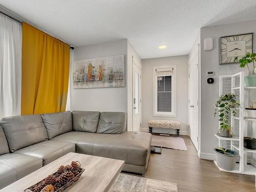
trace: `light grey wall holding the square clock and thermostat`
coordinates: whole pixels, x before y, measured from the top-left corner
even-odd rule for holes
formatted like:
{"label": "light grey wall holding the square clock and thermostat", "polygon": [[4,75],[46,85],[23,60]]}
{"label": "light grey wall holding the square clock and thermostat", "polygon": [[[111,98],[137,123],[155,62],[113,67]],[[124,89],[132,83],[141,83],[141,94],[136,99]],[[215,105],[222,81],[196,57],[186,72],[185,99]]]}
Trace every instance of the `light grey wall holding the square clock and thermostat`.
{"label": "light grey wall holding the square clock and thermostat", "polygon": [[[239,64],[219,65],[219,37],[256,32],[256,20],[201,29],[201,153],[214,157],[213,148],[218,145],[214,134],[218,131],[218,120],[214,118],[212,105],[219,97],[219,76],[241,71]],[[214,49],[203,50],[206,37],[214,39]],[[206,72],[215,72],[215,83],[207,84]]]}

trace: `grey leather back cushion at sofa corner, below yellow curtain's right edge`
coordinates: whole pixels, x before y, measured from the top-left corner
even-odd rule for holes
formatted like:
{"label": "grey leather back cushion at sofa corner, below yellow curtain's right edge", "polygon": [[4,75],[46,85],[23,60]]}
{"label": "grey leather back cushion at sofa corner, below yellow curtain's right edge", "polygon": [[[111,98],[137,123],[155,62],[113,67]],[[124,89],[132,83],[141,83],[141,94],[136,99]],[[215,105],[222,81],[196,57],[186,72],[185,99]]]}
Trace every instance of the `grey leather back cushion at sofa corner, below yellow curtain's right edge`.
{"label": "grey leather back cushion at sofa corner, below yellow curtain's right edge", "polygon": [[48,138],[72,131],[72,115],[70,111],[41,114],[46,126]]}

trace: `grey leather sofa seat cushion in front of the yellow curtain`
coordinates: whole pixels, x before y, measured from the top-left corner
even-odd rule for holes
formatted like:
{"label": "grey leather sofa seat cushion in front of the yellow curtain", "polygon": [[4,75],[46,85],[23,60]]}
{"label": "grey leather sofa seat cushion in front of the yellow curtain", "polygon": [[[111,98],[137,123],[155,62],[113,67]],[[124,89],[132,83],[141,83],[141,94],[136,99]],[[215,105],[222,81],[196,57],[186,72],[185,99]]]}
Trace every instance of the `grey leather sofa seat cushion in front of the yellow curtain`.
{"label": "grey leather sofa seat cushion in front of the yellow curtain", "polygon": [[48,140],[27,146],[14,153],[40,158],[45,166],[70,152],[75,152],[74,143]]}

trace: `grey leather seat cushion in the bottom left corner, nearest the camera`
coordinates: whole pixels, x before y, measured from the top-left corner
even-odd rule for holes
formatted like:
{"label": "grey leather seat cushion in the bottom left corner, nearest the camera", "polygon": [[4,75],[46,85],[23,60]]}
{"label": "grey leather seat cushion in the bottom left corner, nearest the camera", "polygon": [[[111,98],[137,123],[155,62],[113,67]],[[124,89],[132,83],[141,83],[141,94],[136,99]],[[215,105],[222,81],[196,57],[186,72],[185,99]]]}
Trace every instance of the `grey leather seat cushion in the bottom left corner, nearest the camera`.
{"label": "grey leather seat cushion in the bottom left corner, nearest the camera", "polygon": [[0,189],[42,167],[42,159],[20,154],[0,156]]}

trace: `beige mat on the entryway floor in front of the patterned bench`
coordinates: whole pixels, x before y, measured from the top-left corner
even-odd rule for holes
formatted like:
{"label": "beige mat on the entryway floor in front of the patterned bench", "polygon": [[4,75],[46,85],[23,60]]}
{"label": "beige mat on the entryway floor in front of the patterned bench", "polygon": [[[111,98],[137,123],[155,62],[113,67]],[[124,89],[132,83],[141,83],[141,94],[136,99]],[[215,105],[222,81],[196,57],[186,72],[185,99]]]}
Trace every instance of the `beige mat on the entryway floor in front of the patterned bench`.
{"label": "beige mat on the entryway floor in front of the patterned bench", "polygon": [[185,141],[181,137],[152,135],[151,145],[187,151]]}

